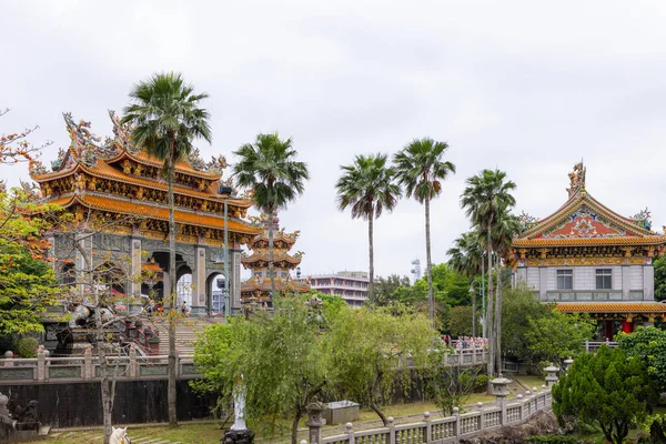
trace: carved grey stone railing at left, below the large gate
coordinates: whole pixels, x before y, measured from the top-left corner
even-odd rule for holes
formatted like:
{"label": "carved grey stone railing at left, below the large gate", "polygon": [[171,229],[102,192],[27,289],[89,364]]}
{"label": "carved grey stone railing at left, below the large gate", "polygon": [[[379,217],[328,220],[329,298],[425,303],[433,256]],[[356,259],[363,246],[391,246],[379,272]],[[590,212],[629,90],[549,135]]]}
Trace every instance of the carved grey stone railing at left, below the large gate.
{"label": "carved grey stone railing at left, below the large gate", "polygon": [[[0,385],[49,383],[63,381],[99,381],[103,376],[99,357],[90,349],[81,356],[49,357],[48,352],[37,359],[0,360]],[[194,379],[199,372],[191,355],[176,355],[176,376]],[[129,355],[107,357],[107,375],[118,380],[161,380],[169,375],[169,356],[140,356],[133,349]]]}

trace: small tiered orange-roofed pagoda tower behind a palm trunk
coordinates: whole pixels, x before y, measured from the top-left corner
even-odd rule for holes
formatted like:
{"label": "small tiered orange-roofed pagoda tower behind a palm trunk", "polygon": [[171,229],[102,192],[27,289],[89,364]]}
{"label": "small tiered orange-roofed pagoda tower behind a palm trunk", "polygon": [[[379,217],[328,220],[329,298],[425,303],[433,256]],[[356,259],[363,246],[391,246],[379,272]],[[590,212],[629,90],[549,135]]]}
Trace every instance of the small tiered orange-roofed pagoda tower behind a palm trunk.
{"label": "small tiered orange-roofed pagoda tower behind a palm trunk", "polygon": [[[252,219],[252,218],[251,218]],[[252,254],[243,253],[241,263],[245,270],[252,270],[252,278],[241,285],[241,300],[248,303],[270,303],[271,301],[271,278],[269,274],[269,229],[265,222],[265,214],[262,214],[261,221],[264,224],[264,231],[254,236],[248,244]],[[273,219],[273,271],[275,273],[275,292],[297,292],[307,293],[310,283],[300,279],[300,272],[296,271],[296,279],[293,279],[291,272],[297,270],[303,252],[290,254],[289,251],[294,246],[299,239],[300,231],[285,233],[280,229],[280,220]]]}

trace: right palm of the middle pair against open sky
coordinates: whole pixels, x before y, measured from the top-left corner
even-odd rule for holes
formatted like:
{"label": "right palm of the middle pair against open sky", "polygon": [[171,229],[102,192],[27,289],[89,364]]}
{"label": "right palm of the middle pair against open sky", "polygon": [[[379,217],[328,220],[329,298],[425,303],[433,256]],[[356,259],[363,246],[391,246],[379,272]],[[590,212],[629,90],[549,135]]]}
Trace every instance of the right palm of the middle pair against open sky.
{"label": "right palm of the middle pair against open sky", "polygon": [[405,194],[425,205],[425,261],[431,322],[434,319],[435,304],[431,260],[430,202],[442,193],[442,181],[450,173],[455,174],[455,165],[442,160],[447,148],[445,142],[435,142],[431,138],[414,139],[393,158],[397,170],[397,180],[405,188]]}

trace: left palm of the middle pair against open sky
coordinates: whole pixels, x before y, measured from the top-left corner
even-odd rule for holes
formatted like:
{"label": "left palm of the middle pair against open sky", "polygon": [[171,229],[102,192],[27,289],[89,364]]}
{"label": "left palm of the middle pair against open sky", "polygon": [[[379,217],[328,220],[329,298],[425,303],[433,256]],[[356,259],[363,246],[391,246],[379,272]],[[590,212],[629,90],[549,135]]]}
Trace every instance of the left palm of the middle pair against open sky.
{"label": "left palm of the middle pair against open sky", "polygon": [[337,206],[344,211],[352,209],[352,218],[367,220],[367,245],[370,254],[370,283],[367,295],[374,302],[374,241],[373,220],[384,210],[393,211],[401,192],[395,183],[395,170],[386,165],[386,154],[356,155],[354,163],[343,165],[343,174],[337,180]]}

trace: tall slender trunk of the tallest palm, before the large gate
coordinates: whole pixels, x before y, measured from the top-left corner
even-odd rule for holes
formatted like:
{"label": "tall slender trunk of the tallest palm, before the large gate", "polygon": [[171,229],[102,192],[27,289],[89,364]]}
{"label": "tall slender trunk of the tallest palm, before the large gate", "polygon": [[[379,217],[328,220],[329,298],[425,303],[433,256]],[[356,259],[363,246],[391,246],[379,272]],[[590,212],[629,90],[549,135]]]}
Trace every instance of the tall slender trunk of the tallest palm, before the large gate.
{"label": "tall slender trunk of the tallest palm, before the large gate", "polygon": [[176,280],[175,274],[175,198],[173,195],[174,172],[174,150],[175,141],[171,141],[171,152],[167,159],[168,181],[169,181],[169,387],[167,400],[169,404],[169,425],[178,425],[175,413],[175,297]]}

